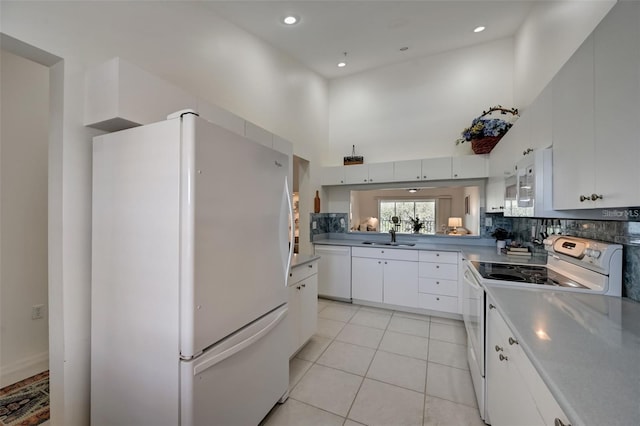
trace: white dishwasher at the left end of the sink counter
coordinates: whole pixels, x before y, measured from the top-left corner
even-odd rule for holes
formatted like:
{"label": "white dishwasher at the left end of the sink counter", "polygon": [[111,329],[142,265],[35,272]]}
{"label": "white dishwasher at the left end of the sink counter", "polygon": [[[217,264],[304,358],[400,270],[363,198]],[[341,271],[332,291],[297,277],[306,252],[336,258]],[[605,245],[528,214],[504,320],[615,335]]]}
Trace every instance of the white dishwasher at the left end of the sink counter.
{"label": "white dishwasher at the left end of the sink counter", "polygon": [[318,260],[318,295],[351,300],[351,247],[320,245],[314,246]]}

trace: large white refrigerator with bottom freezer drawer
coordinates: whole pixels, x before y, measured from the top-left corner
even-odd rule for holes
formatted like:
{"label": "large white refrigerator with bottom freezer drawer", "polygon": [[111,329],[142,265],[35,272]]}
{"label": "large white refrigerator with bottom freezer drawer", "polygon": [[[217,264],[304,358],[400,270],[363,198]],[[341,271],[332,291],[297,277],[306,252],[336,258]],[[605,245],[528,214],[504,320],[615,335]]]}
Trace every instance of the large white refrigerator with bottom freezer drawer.
{"label": "large white refrigerator with bottom freezer drawer", "polygon": [[286,399],[288,164],[194,113],[94,138],[93,425],[255,425]]}

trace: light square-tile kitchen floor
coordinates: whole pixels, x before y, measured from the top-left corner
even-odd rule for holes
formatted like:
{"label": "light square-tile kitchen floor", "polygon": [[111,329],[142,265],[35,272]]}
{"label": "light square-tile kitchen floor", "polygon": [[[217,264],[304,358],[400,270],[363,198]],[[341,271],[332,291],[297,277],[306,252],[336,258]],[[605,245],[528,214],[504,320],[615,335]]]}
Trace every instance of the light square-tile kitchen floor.
{"label": "light square-tile kitchen floor", "polygon": [[320,299],[264,426],[484,426],[461,321]]}

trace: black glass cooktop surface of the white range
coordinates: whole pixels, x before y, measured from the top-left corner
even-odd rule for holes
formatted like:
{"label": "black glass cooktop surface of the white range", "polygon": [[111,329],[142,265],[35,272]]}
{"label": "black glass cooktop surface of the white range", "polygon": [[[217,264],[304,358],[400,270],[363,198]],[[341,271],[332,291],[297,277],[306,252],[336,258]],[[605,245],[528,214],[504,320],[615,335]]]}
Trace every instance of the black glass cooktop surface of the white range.
{"label": "black glass cooktop surface of the white range", "polygon": [[504,263],[471,262],[482,278],[559,287],[586,288],[546,266],[507,265]]}

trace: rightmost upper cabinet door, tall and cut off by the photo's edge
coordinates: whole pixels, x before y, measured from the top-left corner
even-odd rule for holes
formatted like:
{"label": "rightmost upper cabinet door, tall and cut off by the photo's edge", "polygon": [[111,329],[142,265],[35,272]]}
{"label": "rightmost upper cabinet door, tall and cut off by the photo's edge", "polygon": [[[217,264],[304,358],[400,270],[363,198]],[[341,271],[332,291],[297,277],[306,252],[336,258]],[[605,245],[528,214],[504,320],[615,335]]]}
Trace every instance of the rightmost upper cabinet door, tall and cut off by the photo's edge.
{"label": "rightmost upper cabinet door, tall and cut off by the photo's edge", "polygon": [[[595,188],[591,207],[640,204],[640,6],[619,2],[594,31]],[[585,120],[586,123],[586,120]],[[589,193],[591,193],[589,192]],[[587,206],[584,206],[587,207]]]}

